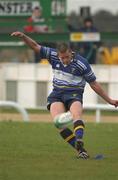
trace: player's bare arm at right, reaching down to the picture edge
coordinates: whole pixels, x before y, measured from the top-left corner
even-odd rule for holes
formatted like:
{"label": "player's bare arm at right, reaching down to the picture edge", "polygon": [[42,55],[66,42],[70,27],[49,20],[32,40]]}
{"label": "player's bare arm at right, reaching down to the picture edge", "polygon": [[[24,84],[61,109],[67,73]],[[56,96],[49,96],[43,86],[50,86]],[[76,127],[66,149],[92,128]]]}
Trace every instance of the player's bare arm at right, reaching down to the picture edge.
{"label": "player's bare arm at right, reaching down to the picture edge", "polygon": [[113,100],[111,99],[106,92],[102,89],[101,85],[97,82],[91,82],[90,83],[91,88],[99,95],[101,96],[106,102],[108,102],[109,104],[117,107],[118,106],[118,100]]}

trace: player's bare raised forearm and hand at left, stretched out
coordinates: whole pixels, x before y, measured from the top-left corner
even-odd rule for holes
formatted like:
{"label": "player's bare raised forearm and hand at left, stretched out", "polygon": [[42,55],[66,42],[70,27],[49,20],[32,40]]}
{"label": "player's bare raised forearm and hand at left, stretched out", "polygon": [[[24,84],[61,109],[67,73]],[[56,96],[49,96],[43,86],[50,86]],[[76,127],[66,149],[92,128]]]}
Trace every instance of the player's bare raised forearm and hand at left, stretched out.
{"label": "player's bare raised forearm and hand at left, stretched out", "polygon": [[26,34],[24,34],[23,32],[20,31],[16,31],[13,32],[11,34],[11,36],[15,36],[15,37],[19,37],[21,38],[30,48],[32,48],[35,52],[39,52],[41,46],[34,41],[33,39],[31,39],[29,36],[27,36]]}

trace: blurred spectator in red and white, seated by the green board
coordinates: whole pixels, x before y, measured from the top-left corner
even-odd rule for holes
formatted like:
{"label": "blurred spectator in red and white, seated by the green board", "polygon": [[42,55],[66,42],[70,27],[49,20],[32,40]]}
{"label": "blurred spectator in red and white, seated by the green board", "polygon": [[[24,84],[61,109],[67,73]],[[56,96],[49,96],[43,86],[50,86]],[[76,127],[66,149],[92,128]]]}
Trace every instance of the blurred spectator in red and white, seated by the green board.
{"label": "blurred spectator in red and white, seated by the green board", "polygon": [[25,32],[45,33],[48,31],[48,26],[45,23],[45,19],[42,17],[41,7],[35,7],[32,12],[32,16],[27,20],[28,24],[24,27]]}

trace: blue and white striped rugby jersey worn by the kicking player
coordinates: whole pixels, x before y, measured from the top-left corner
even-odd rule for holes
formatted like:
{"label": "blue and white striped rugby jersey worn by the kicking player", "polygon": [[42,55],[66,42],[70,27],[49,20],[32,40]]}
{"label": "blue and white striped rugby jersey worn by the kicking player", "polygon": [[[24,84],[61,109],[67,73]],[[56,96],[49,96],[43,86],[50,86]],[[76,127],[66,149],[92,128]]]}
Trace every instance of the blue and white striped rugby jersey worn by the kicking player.
{"label": "blue and white striped rugby jersey worn by the kicking player", "polygon": [[40,57],[47,58],[53,69],[53,87],[58,90],[84,91],[86,82],[96,80],[89,63],[76,54],[69,65],[64,65],[57,56],[56,49],[41,47]]}

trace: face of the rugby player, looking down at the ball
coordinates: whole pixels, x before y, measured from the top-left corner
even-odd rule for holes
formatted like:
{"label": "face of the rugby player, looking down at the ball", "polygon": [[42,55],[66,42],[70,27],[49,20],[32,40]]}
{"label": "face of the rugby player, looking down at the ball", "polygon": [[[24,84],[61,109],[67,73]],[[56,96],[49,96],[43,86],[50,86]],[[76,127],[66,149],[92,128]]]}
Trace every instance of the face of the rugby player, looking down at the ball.
{"label": "face of the rugby player, looking down at the ball", "polygon": [[62,61],[63,64],[68,65],[72,59],[72,52],[71,52],[71,50],[67,50],[64,53],[59,52],[58,57],[59,57],[60,61]]}

